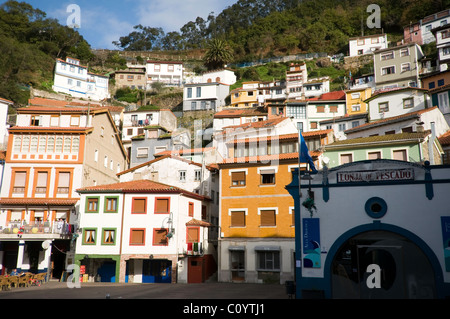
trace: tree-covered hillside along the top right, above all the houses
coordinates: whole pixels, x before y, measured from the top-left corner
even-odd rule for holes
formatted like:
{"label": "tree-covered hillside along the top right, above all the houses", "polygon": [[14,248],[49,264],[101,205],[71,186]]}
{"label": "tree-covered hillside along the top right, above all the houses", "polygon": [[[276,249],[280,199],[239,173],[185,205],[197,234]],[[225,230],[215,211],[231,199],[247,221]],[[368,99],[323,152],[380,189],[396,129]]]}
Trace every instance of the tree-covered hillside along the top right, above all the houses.
{"label": "tree-covered hillside along the top right, above all the houses", "polygon": [[366,20],[373,0],[239,0],[219,14],[197,17],[179,32],[158,26],[136,30],[114,43],[124,50],[188,50],[205,48],[221,38],[234,51],[235,62],[298,52],[346,53],[348,38],[386,32],[399,39],[410,22],[443,10],[450,0],[379,0],[381,28]]}

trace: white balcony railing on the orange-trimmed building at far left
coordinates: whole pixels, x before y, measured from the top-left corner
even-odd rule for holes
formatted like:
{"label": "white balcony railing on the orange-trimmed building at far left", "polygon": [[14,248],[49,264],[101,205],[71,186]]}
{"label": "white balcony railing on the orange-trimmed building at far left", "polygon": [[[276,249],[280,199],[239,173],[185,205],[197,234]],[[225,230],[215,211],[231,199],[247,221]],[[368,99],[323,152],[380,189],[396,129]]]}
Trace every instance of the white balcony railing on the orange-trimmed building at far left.
{"label": "white balcony railing on the orange-trimmed building at far left", "polygon": [[7,226],[0,226],[0,235],[36,235],[36,234],[60,234],[67,236],[72,234],[73,225],[66,222],[10,222]]}

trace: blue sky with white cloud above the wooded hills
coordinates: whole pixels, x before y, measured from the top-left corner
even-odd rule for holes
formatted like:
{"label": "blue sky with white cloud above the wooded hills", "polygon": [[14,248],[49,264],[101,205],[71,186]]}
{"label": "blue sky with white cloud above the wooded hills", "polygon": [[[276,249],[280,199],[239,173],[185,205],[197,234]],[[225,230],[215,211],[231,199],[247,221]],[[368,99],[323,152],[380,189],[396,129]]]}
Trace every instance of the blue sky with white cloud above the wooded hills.
{"label": "blue sky with white cloud above the wooded hills", "polygon": [[[117,49],[112,44],[138,24],[162,28],[165,33],[180,28],[197,17],[218,15],[238,0],[18,0],[27,2],[58,19],[62,25],[79,22],[78,32],[93,49]],[[6,2],[0,0],[0,4]],[[70,7],[75,4],[79,15]],[[69,9],[69,10],[68,10]],[[69,18],[79,17],[79,20]],[[69,20],[69,21],[68,21]]]}

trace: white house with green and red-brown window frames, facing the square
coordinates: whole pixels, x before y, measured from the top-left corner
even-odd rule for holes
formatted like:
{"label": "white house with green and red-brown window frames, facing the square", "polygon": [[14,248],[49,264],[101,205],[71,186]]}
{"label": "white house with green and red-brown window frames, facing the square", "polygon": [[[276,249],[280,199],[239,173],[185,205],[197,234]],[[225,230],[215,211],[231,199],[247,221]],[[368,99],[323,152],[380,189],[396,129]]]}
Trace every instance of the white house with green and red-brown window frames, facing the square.
{"label": "white house with green and red-brown window frames, facing the square", "polygon": [[149,180],[79,189],[85,281],[200,283],[215,272],[205,197]]}

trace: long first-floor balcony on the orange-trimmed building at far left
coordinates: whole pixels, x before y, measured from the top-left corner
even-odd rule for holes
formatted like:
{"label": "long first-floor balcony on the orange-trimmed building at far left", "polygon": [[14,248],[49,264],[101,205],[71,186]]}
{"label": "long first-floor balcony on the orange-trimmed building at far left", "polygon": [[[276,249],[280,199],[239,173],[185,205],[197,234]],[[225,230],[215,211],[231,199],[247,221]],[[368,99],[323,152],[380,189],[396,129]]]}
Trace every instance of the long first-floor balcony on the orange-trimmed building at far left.
{"label": "long first-floor balcony on the orange-trimmed building at far left", "polygon": [[30,222],[14,221],[0,226],[0,238],[66,238],[73,233],[73,225],[66,222]]}

